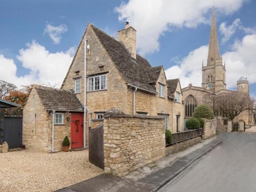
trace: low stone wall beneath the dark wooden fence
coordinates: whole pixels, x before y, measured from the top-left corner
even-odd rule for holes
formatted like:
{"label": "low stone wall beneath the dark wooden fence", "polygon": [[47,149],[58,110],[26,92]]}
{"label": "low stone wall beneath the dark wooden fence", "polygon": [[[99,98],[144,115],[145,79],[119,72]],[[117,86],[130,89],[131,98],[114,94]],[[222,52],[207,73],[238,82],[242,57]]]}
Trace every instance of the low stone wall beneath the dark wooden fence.
{"label": "low stone wall beneath the dark wooden fence", "polygon": [[170,154],[174,154],[174,153],[183,151],[186,148],[188,148],[192,145],[195,145],[197,143],[201,143],[201,142],[202,142],[201,137],[196,137],[196,138],[193,138],[193,139],[183,141],[181,143],[176,143],[176,144],[170,145],[170,146],[165,148],[165,155],[167,156],[167,155],[170,155]]}

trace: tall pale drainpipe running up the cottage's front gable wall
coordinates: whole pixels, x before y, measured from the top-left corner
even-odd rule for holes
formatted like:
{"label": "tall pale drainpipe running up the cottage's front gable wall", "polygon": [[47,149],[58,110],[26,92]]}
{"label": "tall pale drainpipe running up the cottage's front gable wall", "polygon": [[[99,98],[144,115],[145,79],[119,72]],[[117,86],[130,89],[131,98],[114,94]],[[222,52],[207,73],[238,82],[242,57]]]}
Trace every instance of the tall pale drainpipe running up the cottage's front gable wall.
{"label": "tall pale drainpipe running up the cottage's front gable wall", "polygon": [[84,36],[84,95],[83,95],[83,98],[84,98],[84,101],[83,101],[83,147],[86,148],[86,110],[87,110],[87,106],[86,106],[86,92],[87,92],[87,89],[86,89],[86,63],[87,62],[87,39],[86,37]]}

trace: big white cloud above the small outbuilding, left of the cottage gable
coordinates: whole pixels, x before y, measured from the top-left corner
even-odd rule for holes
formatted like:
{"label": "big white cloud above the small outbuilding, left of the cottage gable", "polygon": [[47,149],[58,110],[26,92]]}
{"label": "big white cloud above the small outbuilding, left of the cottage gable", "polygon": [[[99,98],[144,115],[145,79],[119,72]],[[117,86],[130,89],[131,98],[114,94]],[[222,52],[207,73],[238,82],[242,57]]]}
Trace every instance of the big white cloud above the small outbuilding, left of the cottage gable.
{"label": "big white cloud above the small outbuilding, left of the cottage gable", "polygon": [[18,87],[31,83],[50,83],[60,87],[73,55],[74,48],[66,52],[50,53],[44,46],[33,40],[31,44],[27,44],[26,49],[19,50],[17,56],[22,66],[30,71],[29,74],[18,77],[14,60],[0,55],[0,77],[1,80],[14,83]]}

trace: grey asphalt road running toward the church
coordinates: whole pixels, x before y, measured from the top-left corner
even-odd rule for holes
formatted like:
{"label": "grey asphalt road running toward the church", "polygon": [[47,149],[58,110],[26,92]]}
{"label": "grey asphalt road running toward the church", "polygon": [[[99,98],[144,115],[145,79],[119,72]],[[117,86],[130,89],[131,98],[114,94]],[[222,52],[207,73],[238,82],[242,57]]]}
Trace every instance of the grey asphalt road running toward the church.
{"label": "grey asphalt road running toward the church", "polygon": [[222,144],[159,191],[255,192],[256,133],[222,133]]}

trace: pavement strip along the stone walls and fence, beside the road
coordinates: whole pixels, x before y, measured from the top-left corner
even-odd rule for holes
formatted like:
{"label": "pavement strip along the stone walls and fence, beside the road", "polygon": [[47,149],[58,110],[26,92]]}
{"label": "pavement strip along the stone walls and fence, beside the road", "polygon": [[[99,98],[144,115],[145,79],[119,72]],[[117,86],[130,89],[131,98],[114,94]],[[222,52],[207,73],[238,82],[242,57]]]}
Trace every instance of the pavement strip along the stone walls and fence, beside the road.
{"label": "pavement strip along the stone walls and fence, beside the road", "polygon": [[138,168],[135,172],[123,178],[117,178],[110,174],[102,174],[57,191],[157,191],[169,180],[172,180],[183,172],[189,165],[209,153],[218,144],[220,144],[218,137],[207,139],[202,143],[191,146],[183,152],[166,156],[156,162]]}

